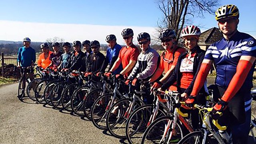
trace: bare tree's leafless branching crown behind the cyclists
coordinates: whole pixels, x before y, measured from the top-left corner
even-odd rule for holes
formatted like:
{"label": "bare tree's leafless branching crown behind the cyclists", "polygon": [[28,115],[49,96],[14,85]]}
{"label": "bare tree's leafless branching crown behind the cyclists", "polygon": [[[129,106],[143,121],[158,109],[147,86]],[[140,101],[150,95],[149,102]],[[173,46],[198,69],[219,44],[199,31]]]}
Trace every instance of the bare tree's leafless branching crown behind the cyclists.
{"label": "bare tree's leafless branching crown behind the cyclists", "polygon": [[158,32],[164,28],[173,29],[179,39],[180,32],[192,17],[204,18],[204,14],[214,14],[219,0],[158,0],[158,8],[164,17],[158,21]]}

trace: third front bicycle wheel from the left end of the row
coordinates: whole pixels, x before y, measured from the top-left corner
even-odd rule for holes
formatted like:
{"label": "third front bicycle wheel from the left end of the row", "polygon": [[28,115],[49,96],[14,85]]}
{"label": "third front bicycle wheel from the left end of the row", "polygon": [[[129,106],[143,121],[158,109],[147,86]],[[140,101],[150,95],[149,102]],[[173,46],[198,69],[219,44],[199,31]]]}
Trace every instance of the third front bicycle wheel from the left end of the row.
{"label": "third front bicycle wheel from the left end of the row", "polygon": [[44,89],[46,88],[46,85],[49,83],[48,79],[41,80],[37,85],[35,89],[35,98],[36,101],[40,104],[46,104],[44,101]]}

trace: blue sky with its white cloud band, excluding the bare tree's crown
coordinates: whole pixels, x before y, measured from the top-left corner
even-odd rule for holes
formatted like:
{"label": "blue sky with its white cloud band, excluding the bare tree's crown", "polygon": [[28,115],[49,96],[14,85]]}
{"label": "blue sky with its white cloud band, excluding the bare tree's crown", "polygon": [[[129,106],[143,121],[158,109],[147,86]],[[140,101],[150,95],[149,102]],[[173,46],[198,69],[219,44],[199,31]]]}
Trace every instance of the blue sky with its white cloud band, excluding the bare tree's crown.
{"label": "blue sky with its white cloud band, excluding the bare tree's crown", "polygon": [[[32,40],[44,41],[46,38],[58,36],[68,41],[75,38],[84,39],[81,38],[82,34],[76,34],[84,33],[86,39],[99,39],[104,43],[107,34],[116,34],[120,38],[120,32],[127,27],[134,28],[136,32],[148,31],[150,34],[155,34],[154,28],[162,17],[156,2],[156,0],[5,0],[0,5],[0,40],[20,40],[24,36],[31,36]],[[246,0],[246,2],[220,0],[220,5],[224,4],[238,6],[240,10],[238,30],[256,37],[254,11],[256,0]],[[199,25],[202,31],[217,27],[214,15],[205,14],[205,17],[194,18],[193,24]],[[15,30],[13,34],[9,34],[11,30]],[[62,32],[65,30],[66,34]],[[122,40],[119,42],[122,43]]]}

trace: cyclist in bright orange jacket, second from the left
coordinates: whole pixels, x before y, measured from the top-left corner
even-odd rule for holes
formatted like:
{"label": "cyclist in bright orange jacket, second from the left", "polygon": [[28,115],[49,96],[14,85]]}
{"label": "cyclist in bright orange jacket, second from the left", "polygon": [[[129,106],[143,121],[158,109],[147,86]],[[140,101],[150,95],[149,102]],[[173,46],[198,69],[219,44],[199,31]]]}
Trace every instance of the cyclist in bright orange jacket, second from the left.
{"label": "cyclist in bright orange jacket, second from the left", "polygon": [[46,69],[51,64],[50,54],[53,52],[49,50],[48,43],[43,43],[40,45],[40,47],[43,53],[38,57],[37,66]]}

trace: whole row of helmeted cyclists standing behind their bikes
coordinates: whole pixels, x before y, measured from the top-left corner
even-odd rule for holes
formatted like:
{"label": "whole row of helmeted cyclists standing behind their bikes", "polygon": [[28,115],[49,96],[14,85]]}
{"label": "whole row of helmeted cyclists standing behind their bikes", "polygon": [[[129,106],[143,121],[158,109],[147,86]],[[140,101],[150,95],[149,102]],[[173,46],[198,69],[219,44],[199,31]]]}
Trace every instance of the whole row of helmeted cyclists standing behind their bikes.
{"label": "whole row of helmeted cyclists standing behind their bikes", "polygon": [[[97,40],[74,41],[72,46],[64,42],[64,53],[60,52],[60,43],[52,43],[51,52],[48,43],[40,45],[37,65],[44,69],[54,68],[62,71],[82,71],[84,76],[105,73],[107,77],[116,75],[124,79],[126,84],[140,88],[142,81],[152,83],[151,91],[178,91],[184,98],[186,107],[181,109],[190,113],[192,126],[197,129],[200,122],[194,104],[206,104],[208,94],[206,77],[212,64],[216,66],[214,102],[212,114],[216,115],[220,125],[228,127],[233,144],[246,143],[251,119],[252,75],[256,59],[256,40],[237,30],[239,10],[235,5],[221,6],[215,12],[215,18],[223,37],[204,51],[198,46],[200,28],[186,26],[181,32],[185,48],[178,46],[174,30],[165,29],[159,34],[164,52],[159,55],[150,47],[150,35],[146,32],[138,34],[137,41],[141,52],[133,44],[134,32],[130,28],[122,30],[121,35],[126,46],[116,42],[116,36],[106,36],[108,49],[106,56],[100,51]],[[34,66],[36,53],[30,47],[31,40],[24,38],[24,46],[18,51],[18,67]],[[74,51],[72,51],[72,47]],[[84,48],[85,52],[82,52]],[[72,51],[72,52],[71,52]],[[162,73],[165,73],[164,76]],[[33,79],[33,71],[28,71]],[[73,82],[74,79],[68,78]],[[153,98],[148,96],[147,103],[152,104]],[[222,116],[218,116],[222,112]]]}

